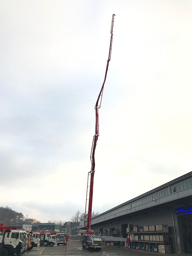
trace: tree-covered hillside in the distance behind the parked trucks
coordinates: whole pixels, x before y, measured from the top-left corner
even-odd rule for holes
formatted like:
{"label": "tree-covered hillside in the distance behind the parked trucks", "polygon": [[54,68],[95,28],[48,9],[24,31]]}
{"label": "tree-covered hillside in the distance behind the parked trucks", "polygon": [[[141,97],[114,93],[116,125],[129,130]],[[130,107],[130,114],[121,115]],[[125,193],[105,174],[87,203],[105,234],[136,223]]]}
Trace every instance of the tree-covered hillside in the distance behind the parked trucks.
{"label": "tree-covered hillside in the distance behind the parked trucks", "polygon": [[15,212],[8,206],[0,207],[0,223],[3,223],[4,226],[11,225],[12,220],[17,218],[24,218],[22,212]]}

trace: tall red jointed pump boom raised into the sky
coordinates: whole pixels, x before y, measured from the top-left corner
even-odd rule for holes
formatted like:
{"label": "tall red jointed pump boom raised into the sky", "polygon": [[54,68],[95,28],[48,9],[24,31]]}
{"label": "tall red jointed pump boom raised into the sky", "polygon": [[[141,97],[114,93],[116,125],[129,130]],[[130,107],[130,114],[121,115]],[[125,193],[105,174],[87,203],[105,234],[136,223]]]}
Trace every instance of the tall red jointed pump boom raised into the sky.
{"label": "tall red jointed pump boom raised into the sky", "polygon": [[[96,114],[95,135],[93,136],[92,150],[91,150],[91,156],[90,156],[92,165],[91,165],[91,171],[88,172],[87,195],[86,195],[86,204],[85,204],[85,219],[86,219],[86,213],[87,213],[87,224],[86,224],[86,220],[84,219],[84,228],[87,228],[86,235],[93,234],[92,230],[91,230],[91,214],[92,214],[92,199],[93,199],[93,180],[94,180],[94,172],[95,172],[95,148],[96,148],[96,143],[97,143],[97,140],[99,137],[99,108],[101,106],[103,88],[104,88],[104,84],[105,84],[105,80],[106,80],[106,76],[107,76],[108,65],[109,65],[109,61],[111,59],[114,17],[115,17],[115,14],[113,14],[112,23],[111,23],[111,41],[110,41],[110,47],[109,47],[109,56],[108,56],[108,60],[107,60],[107,67],[106,67],[106,71],[105,71],[105,78],[104,78],[104,82],[103,82],[103,85],[102,85],[100,93],[99,93],[99,97],[98,97],[96,105],[95,105],[95,114]],[[90,178],[90,186],[88,186],[89,178]],[[88,187],[89,187],[89,199],[87,199]],[[87,201],[89,201],[88,211],[86,211],[87,210]]]}

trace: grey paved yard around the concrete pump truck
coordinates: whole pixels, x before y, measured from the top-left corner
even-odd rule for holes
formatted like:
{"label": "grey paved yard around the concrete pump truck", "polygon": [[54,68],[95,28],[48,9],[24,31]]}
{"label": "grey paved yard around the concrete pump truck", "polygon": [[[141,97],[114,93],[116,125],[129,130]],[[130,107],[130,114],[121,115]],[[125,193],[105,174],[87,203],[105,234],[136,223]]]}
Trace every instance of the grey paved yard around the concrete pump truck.
{"label": "grey paved yard around the concrete pump truck", "polygon": [[[73,241],[69,240],[67,243],[67,252],[65,251],[65,248],[62,248],[63,246],[41,246],[41,247],[34,247],[31,251],[24,252],[21,255],[26,256],[158,256],[158,255],[164,255],[162,253],[154,253],[154,252],[147,252],[147,251],[141,251],[136,249],[130,249],[125,248],[123,246],[117,247],[117,246],[105,246],[104,248],[101,248],[101,251],[94,250],[87,250],[83,249],[81,245],[81,241]],[[179,256],[191,256],[191,254],[187,253],[180,253],[180,254],[171,254],[171,255],[179,255]]]}

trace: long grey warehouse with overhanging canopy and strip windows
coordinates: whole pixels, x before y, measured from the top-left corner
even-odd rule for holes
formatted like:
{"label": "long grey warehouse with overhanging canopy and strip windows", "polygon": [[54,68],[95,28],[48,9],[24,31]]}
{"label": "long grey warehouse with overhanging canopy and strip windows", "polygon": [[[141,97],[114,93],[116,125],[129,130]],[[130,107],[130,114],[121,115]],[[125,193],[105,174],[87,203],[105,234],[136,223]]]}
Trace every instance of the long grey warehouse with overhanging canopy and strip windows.
{"label": "long grey warehouse with overhanging canopy and strip windows", "polygon": [[[154,248],[156,244],[164,245],[167,253],[191,253],[191,177],[192,172],[189,172],[99,214],[92,219],[92,229],[96,234],[129,237],[132,248],[141,249],[141,245]],[[144,231],[144,227],[148,230]],[[167,228],[159,230],[160,227]],[[153,235],[155,239],[163,237],[164,243],[153,241]],[[145,241],[144,236],[149,241]]]}

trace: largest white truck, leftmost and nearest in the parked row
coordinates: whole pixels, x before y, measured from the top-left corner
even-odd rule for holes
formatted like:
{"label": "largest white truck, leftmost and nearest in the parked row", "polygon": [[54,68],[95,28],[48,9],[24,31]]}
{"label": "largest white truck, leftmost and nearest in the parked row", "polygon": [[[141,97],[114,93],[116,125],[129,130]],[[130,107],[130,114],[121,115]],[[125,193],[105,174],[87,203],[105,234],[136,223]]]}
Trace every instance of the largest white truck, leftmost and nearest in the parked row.
{"label": "largest white truck, leftmost and nearest in the parked row", "polygon": [[1,236],[1,243],[0,243],[0,255],[1,256],[7,256],[7,255],[13,255],[16,253],[16,246],[21,242],[22,244],[22,250],[24,251],[26,248],[25,245],[25,237],[23,230],[10,230],[6,229],[4,231],[3,236]]}

